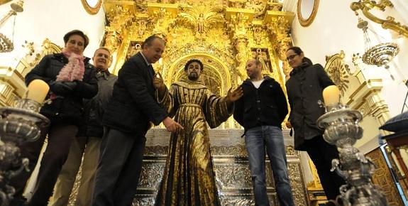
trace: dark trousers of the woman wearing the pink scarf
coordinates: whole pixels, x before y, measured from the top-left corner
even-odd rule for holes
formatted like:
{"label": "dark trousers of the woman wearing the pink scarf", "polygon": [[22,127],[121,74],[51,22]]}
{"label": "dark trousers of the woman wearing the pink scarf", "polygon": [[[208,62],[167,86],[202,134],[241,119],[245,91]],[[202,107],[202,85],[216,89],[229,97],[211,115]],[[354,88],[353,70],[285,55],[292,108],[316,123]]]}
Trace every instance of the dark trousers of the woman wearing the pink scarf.
{"label": "dark trousers of the woman wearing the pink scarf", "polygon": [[75,138],[77,132],[78,127],[72,124],[51,124],[48,131],[48,145],[41,159],[37,183],[28,205],[44,206],[48,204],[60,170],[67,160],[72,139]]}

